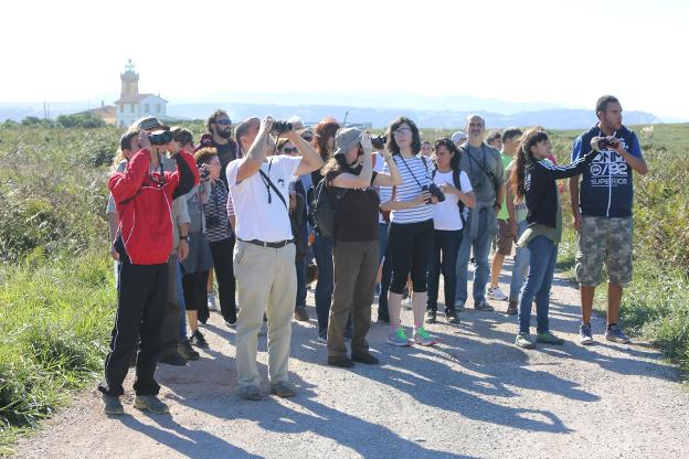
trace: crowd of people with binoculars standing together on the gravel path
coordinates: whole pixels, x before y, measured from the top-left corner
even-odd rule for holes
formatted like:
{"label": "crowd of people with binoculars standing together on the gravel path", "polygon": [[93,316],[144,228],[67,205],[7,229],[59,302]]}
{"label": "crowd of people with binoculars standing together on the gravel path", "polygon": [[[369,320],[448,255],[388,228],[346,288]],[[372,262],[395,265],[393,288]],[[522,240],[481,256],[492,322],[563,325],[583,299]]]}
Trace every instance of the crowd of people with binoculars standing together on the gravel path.
{"label": "crowd of people with binoculars standing together on the gravel path", "polygon": [[[518,316],[516,345],[562,344],[548,314],[563,227],[556,181],[568,178],[579,232],[580,341],[593,342],[593,297],[605,264],[605,338],[628,343],[617,316],[632,275],[633,171],[644,174],[647,166],[615,97],[601,97],[596,116],[565,167],[556,166],[543,128],[487,136],[477,115],[466,132],[433,143],[406,117],[375,138],[330,117],[314,127],[248,118],[233,139],[227,114],[216,110],[197,145],[187,129],[139,120],[123,136],[108,182],[118,306],[99,385],[105,412],[124,413],[119,396],[132,361],[135,406],[167,412],[156,364],[199,359],[193,348],[208,346],[199,323],[214,308],[215,282],[225,324],[236,328],[239,395],[264,397],[256,352],[267,329],[271,392],[294,396],[292,320],[310,319],[310,259],[318,268],[315,338],[327,344],[329,365],[379,362],[367,342],[377,292],[388,343],[435,344],[425,325],[437,320],[441,274],[445,319],[459,323],[471,261],[476,310],[494,310],[487,297],[508,300],[505,312]],[[499,274],[513,243],[507,296]],[[411,337],[403,302],[412,309]]]}

